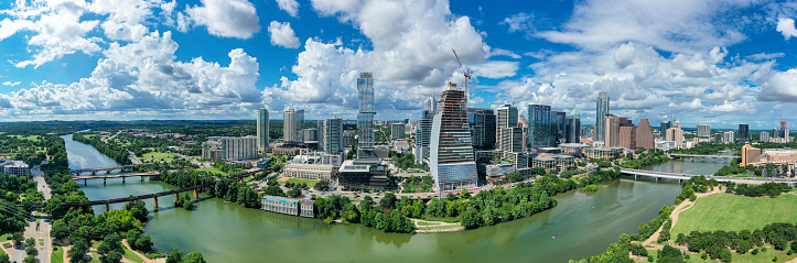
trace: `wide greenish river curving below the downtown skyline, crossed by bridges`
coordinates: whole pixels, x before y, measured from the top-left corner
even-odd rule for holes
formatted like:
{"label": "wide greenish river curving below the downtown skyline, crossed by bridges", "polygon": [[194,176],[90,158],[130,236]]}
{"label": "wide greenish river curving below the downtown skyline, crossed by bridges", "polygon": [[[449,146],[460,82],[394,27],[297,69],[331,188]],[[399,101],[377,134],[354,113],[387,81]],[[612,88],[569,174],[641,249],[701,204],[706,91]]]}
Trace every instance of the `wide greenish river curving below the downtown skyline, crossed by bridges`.
{"label": "wide greenish river curving below the downtown skyline, crossed by bridges", "polygon": [[[115,164],[90,145],[71,142],[68,135],[64,139],[72,168]],[[99,158],[94,157],[97,154]],[[671,162],[682,163],[681,167],[701,165]],[[162,182],[109,179],[106,185],[89,180],[82,189],[97,200],[175,188]],[[529,218],[437,234],[329,226],[317,219],[245,209],[217,198],[203,198],[196,210],[186,211],[174,209],[173,198],[162,197],[159,211],[150,211],[144,230],[158,251],[200,251],[208,262],[567,262],[603,253],[621,233],[636,233],[639,223],[654,219],[664,205],[672,205],[679,193],[677,182],[615,179],[597,193],[557,195],[557,207]],[[152,200],[147,204],[152,207]],[[117,204],[111,209],[121,207]],[[101,210],[95,207],[95,211]]]}

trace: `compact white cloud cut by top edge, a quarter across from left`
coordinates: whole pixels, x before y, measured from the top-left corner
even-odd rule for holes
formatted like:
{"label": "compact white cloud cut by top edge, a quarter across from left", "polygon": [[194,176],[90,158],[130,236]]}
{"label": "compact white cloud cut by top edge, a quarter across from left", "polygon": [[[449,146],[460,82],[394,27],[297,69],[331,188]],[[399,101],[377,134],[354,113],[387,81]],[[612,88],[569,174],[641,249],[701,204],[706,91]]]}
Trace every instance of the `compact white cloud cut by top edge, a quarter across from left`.
{"label": "compact white cloud cut by top edge, a quarter across from left", "polygon": [[257,10],[247,0],[202,0],[202,4],[186,9],[185,13],[193,24],[207,26],[212,35],[249,39],[260,31]]}

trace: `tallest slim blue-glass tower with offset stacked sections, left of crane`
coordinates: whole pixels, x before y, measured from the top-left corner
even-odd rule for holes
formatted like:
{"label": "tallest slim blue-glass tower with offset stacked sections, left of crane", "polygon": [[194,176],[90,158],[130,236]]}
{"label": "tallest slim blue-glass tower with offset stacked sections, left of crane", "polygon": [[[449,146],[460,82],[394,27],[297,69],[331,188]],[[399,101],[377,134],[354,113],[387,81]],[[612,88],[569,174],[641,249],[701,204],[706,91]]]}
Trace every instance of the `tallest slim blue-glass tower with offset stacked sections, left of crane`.
{"label": "tallest slim blue-glass tower with offset stacked sections, left of crane", "polygon": [[357,147],[358,150],[374,150],[374,76],[371,73],[360,73],[357,78],[357,92],[359,92],[359,113],[357,113]]}

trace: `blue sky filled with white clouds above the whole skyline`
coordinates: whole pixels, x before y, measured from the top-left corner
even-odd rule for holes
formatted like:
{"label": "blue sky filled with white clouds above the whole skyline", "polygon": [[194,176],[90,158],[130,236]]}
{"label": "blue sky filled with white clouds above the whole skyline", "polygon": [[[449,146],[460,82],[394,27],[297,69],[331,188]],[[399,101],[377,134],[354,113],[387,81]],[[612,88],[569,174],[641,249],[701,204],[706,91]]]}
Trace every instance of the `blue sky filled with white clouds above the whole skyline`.
{"label": "blue sky filled with white clouds above the whole skyline", "polygon": [[[797,107],[794,1],[36,0],[0,2],[0,121],[417,119],[473,70],[470,103],[753,129]],[[654,124],[656,125],[656,124]]]}

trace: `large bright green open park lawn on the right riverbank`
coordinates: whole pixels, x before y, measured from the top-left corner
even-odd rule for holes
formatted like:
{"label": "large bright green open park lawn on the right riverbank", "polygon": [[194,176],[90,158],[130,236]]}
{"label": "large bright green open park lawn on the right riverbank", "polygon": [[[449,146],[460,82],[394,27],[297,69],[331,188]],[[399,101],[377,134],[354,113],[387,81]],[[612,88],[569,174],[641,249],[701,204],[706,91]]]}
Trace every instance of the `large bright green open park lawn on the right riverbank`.
{"label": "large bright green open park lawn on the right riverbank", "polygon": [[691,231],[740,231],[762,229],[773,222],[797,221],[797,196],[777,198],[715,194],[698,199],[682,211],[671,237]]}

